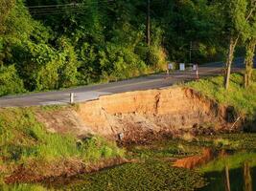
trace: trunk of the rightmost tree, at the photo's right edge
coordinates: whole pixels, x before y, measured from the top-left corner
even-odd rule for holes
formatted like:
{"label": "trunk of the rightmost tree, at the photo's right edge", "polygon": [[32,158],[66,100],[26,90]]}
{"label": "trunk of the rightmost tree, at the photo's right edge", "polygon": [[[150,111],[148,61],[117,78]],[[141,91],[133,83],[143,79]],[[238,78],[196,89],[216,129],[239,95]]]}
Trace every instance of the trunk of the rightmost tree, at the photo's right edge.
{"label": "trunk of the rightmost tree, at the photo's right edge", "polygon": [[246,55],[245,55],[245,74],[244,74],[244,88],[251,85],[252,81],[252,70],[253,70],[253,58],[256,46],[256,38],[251,39],[246,45]]}

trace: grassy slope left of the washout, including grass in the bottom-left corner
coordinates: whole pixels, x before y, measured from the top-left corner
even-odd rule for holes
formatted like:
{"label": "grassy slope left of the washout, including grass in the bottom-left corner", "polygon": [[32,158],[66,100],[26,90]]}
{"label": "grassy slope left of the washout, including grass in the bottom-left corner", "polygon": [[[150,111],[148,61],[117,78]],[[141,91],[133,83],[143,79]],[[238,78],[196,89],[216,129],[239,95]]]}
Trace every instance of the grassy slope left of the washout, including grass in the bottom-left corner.
{"label": "grassy slope left of the washout, including grass in the bottom-left corner", "polygon": [[[44,125],[36,120],[35,109],[0,110],[0,190],[32,190],[32,185],[12,187],[4,183],[4,177],[18,166],[36,171],[33,165],[43,169],[43,166],[58,165],[63,160],[73,159],[86,165],[102,159],[124,157],[124,150],[104,138],[86,138],[78,144],[74,135],[47,132]],[[44,173],[49,172],[39,172],[42,176]]]}

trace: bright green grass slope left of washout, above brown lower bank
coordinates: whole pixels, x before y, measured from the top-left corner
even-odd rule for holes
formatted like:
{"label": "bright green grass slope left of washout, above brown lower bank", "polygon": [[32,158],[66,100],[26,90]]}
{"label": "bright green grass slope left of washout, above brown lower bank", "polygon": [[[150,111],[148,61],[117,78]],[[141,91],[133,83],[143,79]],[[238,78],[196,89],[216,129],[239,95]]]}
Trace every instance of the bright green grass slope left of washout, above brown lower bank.
{"label": "bright green grass slope left of washout, above brown lower bank", "polygon": [[103,138],[90,138],[78,144],[75,136],[49,133],[36,120],[34,112],[29,108],[0,111],[0,154],[5,156],[5,162],[71,157],[90,161],[124,156],[114,143]]}

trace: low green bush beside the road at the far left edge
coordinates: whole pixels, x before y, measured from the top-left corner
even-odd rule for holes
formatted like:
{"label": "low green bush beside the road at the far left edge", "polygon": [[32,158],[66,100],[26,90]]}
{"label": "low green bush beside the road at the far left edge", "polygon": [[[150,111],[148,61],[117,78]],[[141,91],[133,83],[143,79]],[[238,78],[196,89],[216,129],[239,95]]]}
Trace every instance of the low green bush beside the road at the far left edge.
{"label": "low green bush beside the road at the far left edge", "polygon": [[26,92],[14,65],[0,67],[0,96]]}

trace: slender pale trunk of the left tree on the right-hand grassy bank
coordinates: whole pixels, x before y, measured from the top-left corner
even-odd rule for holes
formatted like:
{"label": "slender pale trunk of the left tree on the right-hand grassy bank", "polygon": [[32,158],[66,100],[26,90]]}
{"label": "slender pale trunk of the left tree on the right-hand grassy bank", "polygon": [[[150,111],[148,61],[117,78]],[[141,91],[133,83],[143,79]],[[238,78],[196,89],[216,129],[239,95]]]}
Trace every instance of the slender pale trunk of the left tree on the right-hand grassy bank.
{"label": "slender pale trunk of the left tree on the right-hand grassy bank", "polygon": [[236,42],[234,41],[233,37],[230,38],[229,42],[229,49],[228,55],[225,63],[225,78],[224,78],[224,85],[225,89],[227,90],[229,87],[229,78],[231,73],[231,65],[234,59],[234,52],[235,52]]}

